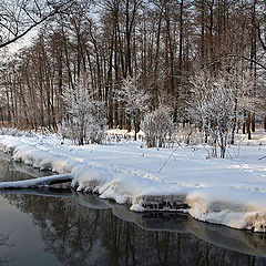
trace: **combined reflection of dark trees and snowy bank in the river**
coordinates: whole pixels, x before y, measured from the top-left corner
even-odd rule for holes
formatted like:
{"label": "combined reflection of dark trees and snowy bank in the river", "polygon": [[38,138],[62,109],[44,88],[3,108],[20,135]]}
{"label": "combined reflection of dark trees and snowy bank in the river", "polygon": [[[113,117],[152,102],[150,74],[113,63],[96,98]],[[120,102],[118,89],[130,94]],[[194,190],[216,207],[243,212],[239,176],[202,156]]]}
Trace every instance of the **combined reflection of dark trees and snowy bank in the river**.
{"label": "combined reflection of dark trees and snowy bank in the river", "polygon": [[[35,194],[35,195],[34,195]],[[62,265],[265,265],[263,234],[196,222],[184,214],[132,213],[82,193],[2,194],[41,228]],[[1,211],[0,211],[1,212]]]}

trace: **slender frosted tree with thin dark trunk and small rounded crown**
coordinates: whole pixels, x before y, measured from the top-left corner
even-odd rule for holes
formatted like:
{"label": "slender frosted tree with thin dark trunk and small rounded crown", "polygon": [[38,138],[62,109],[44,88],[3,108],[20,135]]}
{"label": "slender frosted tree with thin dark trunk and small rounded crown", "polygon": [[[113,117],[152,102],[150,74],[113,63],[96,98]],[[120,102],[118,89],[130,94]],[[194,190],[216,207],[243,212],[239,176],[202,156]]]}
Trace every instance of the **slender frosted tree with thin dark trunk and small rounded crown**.
{"label": "slender frosted tree with thin dark trunk and small rounded crown", "polygon": [[147,101],[150,95],[140,88],[137,78],[127,78],[123,81],[122,88],[116,92],[116,99],[123,104],[125,112],[133,122],[135,130],[134,140],[136,141],[141,114],[149,108]]}

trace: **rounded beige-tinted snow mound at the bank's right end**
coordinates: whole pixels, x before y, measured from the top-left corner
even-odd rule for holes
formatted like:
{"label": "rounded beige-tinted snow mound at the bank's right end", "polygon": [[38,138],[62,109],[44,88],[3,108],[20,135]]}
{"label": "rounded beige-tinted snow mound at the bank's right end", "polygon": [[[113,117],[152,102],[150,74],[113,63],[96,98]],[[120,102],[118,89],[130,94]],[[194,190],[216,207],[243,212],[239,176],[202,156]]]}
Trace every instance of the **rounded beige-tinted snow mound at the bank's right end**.
{"label": "rounded beige-tinted snow mound at the bank's right end", "polygon": [[235,188],[201,188],[187,194],[196,219],[237,229],[266,232],[266,193]]}

